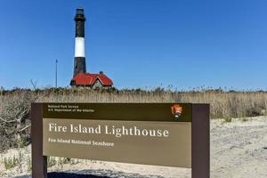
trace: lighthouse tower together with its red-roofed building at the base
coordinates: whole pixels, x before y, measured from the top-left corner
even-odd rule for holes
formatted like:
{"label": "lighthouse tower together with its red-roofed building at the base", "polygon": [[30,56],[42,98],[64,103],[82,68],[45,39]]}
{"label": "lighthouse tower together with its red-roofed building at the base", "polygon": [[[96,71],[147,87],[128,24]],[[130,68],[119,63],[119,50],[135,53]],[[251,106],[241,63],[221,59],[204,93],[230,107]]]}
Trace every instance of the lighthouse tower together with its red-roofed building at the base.
{"label": "lighthouse tower together with its red-roofed building at the base", "polygon": [[71,86],[82,86],[95,88],[112,87],[113,81],[103,71],[98,74],[86,72],[85,63],[85,13],[84,9],[78,7],[75,15],[75,56],[73,77],[70,80]]}

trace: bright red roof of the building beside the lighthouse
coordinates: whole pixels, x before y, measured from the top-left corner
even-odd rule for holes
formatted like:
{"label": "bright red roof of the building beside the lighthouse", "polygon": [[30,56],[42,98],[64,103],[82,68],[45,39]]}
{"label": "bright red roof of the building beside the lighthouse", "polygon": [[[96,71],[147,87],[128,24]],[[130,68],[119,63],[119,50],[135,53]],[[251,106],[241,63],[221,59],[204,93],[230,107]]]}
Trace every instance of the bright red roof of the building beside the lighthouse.
{"label": "bright red roof of the building beside the lighthouse", "polygon": [[112,80],[104,74],[79,73],[71,79],[70,85],[93,85],[97,79],[102,85],[113,85]]}

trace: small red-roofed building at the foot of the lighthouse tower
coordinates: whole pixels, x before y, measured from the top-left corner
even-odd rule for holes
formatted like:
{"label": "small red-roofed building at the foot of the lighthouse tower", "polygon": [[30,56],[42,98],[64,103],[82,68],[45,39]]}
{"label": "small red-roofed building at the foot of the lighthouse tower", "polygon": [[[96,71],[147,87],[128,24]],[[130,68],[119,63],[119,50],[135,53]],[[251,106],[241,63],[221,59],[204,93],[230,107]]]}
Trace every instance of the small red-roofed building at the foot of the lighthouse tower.
{"label": "small red-roofed building at the foot of the lighthouse tower", "polygon": [[108,88],[113,85],[112,80],[100,72],[99,74],[78,73],[70,81],[71,86],[86,86],[91,88]]}

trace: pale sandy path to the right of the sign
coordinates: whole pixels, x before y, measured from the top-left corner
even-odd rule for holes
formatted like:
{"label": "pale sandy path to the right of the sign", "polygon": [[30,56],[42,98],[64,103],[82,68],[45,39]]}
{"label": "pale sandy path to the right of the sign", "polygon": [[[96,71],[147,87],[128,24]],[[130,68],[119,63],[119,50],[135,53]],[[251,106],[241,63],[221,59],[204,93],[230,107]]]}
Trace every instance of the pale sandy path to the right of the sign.
{"label": "pale sandy path to the right of the sign", "polygon": [[267,177],[267,119],[213,123],[211,177]]}

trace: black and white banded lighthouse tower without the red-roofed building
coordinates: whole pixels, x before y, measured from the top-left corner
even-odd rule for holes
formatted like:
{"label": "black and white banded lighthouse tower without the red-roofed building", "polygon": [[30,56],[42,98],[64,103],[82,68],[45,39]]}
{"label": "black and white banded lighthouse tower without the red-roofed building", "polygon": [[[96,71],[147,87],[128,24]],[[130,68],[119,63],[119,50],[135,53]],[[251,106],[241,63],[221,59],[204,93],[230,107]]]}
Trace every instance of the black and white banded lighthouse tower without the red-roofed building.
{"label": "black and white banded lighthouse tower without the red-roofed building", "polygon": [[79,73],[86,72],[85,66],[85,13],[81,7],[77,8],[76,16],[76,34],[75,34],[75,60],[73,77]]}

